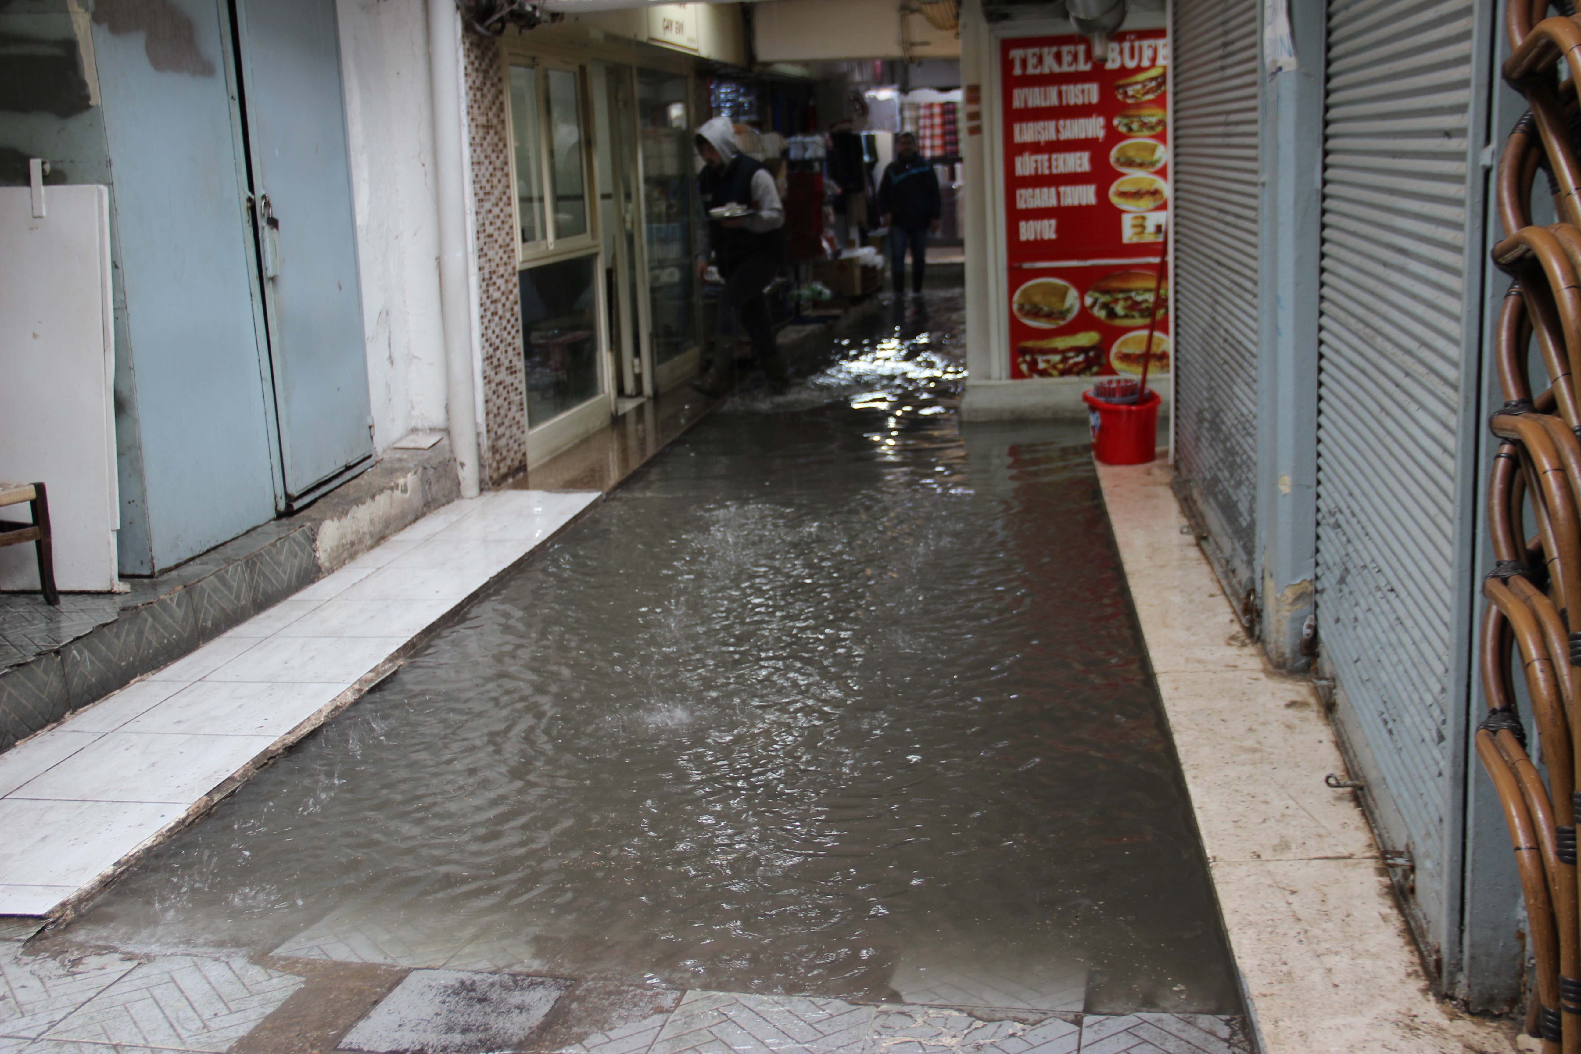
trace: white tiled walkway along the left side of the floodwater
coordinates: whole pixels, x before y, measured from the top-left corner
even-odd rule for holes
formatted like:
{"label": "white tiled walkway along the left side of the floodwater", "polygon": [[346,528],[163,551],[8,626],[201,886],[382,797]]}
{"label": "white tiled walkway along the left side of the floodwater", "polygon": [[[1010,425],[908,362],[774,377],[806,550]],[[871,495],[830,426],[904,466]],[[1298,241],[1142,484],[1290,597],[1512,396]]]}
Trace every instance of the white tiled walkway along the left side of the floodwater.
{"label": "white tiled walkway along the left side of the floodwater", "polygon": [[0,915],[46,915],[294,743],[599,495],[495,491],[0,755]]}

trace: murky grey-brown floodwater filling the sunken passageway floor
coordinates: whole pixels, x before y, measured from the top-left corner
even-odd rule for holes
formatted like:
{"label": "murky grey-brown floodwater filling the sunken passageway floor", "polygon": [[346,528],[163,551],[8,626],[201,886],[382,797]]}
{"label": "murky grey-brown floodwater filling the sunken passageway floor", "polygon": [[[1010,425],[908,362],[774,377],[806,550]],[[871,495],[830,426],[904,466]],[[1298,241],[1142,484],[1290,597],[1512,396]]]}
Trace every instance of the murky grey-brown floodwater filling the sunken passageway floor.
{"label": "murky grey-brown floodwater filling the sunken passageway floor", "polygon": [[1236,1011],[1081,430],[963,435],[958,332],[732,400],[71,935]]}

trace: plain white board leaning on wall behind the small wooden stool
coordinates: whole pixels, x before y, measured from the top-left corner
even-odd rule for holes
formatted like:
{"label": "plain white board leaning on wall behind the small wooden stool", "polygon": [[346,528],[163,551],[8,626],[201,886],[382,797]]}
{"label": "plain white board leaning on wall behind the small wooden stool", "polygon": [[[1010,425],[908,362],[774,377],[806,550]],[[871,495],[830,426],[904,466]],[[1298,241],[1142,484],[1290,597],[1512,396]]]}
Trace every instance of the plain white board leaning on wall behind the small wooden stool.
{"label": "plain white board leaning on wall behind the small wooden stool", "polygon": [[[109,190],[0,186],[0,479],[46,485],[62,591],[120,589],[114,332]],[[36,588],[33,547],[0,548],[0,589]]]}

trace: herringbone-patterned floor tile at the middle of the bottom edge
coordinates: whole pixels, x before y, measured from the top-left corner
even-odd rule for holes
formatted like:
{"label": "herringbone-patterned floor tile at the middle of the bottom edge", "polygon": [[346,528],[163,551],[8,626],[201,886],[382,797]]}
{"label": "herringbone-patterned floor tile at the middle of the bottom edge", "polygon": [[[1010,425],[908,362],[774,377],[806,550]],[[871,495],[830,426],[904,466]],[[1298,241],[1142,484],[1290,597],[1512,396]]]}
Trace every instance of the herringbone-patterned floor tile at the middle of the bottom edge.
{"label": "herringbone-patterned floor tile at the middle of the bottom edge", "polygon": [[686,992],[655,1054],[860,1054],[877,1011],[838,999]]}

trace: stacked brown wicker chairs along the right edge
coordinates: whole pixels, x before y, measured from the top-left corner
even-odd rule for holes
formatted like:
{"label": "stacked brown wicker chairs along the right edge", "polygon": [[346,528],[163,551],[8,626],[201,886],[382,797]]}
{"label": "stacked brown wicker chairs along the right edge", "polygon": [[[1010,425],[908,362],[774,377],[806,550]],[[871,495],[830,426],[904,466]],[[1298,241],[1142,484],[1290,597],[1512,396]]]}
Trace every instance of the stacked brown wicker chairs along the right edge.
{"label": "stacked brown wicker chairs along the right edge", "polygon": [[[1513,283],[1494,349],[1505,401],[1489,422],[1499,439],[1488,491],[1497,564],[1483,583],[1489,710],[1477,755],[1504,804],[1526,898],[1535,959],[1527,1030],[1545,1052],[1581,1054],[1581,19],[1570,0],[1549,16],[1549,0],[1508,0],[1505,11],[1504,76],[1529,111],[1497,177],[1504,232],[1492,258]],[[1540,174],[1559,218],[1551,226],[1532,223]],[[1518,713],[1518,676],[1537,743]]]}

